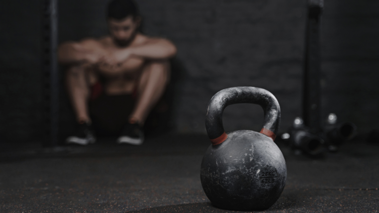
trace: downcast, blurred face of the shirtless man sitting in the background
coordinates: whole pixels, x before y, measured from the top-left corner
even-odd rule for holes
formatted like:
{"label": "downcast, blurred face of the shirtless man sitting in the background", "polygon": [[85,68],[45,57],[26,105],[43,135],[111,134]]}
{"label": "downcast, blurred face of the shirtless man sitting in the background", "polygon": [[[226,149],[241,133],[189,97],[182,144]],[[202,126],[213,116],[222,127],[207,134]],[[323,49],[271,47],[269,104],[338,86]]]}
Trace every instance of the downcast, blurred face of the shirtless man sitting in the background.
{"label": "downcast, blurred face of the shirtless man sitting in the background", "polygon": [[122,20],[108,18],[109,33],[115,43],[119,46],[129,45],[133,40],[139,25],[140,18],[134,18],[132,15]]}

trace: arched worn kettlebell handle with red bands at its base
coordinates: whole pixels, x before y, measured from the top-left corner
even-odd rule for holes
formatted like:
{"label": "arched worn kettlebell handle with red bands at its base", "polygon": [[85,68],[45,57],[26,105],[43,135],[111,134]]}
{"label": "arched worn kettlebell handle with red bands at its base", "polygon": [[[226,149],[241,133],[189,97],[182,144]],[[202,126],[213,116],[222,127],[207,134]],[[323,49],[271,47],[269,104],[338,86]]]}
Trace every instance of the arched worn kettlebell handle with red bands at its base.
{"label": "arched worn kettlebell handle with red bands at its base", "polygon": [[258,104],[264,111],[264,124],[260,133],[275,140],[280,123],[280,106],[271,92],[257,87],[232,87],[217,92],[209,101],[205,117],[205,128],[213,145],[227,138],[222,125],[222,113],[232,104]]}

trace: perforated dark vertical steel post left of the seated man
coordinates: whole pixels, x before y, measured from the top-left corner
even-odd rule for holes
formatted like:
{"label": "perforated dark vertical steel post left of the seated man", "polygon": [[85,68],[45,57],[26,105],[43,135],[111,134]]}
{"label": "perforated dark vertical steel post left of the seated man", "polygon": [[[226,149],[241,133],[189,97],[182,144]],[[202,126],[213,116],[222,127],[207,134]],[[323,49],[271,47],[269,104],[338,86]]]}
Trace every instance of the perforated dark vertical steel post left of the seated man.
{"label": "perforated dark vertical steel post left of the seated man", "polygon": [[59,130],[59,70],[58,46],[58,0],[42,0],[42,75],[44,99],[43,146],[58,145]]}

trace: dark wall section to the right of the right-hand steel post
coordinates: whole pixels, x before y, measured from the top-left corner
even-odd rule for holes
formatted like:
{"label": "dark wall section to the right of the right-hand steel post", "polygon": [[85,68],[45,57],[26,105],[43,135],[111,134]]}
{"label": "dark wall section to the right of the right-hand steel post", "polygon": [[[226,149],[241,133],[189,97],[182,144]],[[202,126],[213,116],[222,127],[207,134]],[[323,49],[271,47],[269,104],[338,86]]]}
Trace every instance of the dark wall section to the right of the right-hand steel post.
{"label": "dark wall section to the right of the right-hand steel post", "polygon": [[379,1],[325,1],[321,42],[324,115],[379,128]]}

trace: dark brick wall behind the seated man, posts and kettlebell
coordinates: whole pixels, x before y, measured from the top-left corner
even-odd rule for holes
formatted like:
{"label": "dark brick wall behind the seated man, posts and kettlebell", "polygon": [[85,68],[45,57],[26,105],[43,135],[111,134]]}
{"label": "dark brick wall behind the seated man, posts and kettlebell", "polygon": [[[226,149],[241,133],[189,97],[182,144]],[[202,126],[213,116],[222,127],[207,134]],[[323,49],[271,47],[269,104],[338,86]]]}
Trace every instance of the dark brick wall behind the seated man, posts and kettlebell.
{"label": "dark brick wall behind the seated man, posts and kettlebell", "polygon": [[[256,86],[282,109],[280,132],[301,115],[306,0],[137,0],[144,32],[179,49],[173,130],[205,133],[207,103],[217,91]],[[60,0],[59,40],[107,33],[107,0]],[[41,138],[41,2],[0,1],[0,139]],[[334,112],[365,134],[379,128],[379,1],[325,0],[322,16],[322,115]],[[62,82],[63,84],[63,82]],[[73,115],[61,88],[62,134]],[[226,131],[259,131],[263,110],[224,112]]]}

